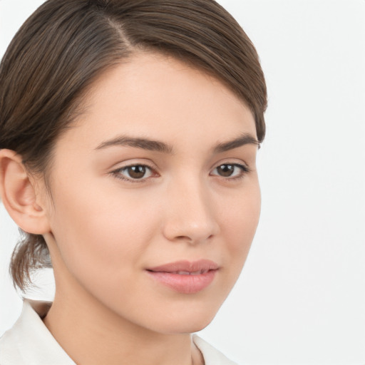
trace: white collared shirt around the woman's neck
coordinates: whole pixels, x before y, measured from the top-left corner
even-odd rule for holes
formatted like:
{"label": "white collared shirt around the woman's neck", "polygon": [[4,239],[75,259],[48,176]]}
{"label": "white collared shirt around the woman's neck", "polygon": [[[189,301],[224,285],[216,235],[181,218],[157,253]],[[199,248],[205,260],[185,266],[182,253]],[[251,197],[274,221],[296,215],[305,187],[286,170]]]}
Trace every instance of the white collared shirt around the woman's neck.
{"label": "white collared shirt around the woman's neck", "polygon": [[[48,331],[41,317],[51,303],[25,301],[14,327],[0,338],[0,365],[76,365]],[[205,365],[237,365],[197,335],[192,340]]]}

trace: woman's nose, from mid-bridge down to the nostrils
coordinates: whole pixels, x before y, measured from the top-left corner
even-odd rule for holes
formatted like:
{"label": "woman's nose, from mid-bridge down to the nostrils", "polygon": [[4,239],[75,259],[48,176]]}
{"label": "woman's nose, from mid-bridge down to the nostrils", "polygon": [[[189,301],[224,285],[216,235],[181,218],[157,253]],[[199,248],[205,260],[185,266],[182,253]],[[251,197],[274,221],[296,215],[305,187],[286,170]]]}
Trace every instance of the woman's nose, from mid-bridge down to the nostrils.
{"label": "woman's nose, from mid-bridge down to the nostrils", "polygon": [[168,240],[195,245],[219,233],[218,212],[207,187],[190,181],[168,190],[163,223],[163,235]]}

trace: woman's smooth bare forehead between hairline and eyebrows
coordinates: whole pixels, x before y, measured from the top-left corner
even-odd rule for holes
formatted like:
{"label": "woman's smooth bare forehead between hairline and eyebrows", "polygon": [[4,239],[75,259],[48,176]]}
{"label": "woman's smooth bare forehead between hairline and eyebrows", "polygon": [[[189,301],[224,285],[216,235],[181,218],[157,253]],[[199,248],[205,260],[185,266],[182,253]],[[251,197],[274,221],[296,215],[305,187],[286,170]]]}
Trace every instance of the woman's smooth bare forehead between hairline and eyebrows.
{"label": "woman's smooth bare forehead between hairline and eyebrows", "polygon": [[95,146],[118,133],[173,144],[192,136],[214,143],[237,133],[256,136],[250,109],[220,81],[173,57],[146,52],[97,78],[75,126],[70,132],[78,143]]}

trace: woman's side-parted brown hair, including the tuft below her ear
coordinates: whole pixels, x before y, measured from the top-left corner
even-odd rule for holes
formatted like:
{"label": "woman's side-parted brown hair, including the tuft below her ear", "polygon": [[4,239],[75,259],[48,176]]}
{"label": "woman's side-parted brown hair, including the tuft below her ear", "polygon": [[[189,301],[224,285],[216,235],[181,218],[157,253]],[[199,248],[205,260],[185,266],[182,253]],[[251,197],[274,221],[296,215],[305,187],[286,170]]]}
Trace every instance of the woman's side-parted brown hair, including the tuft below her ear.
{"label": "woman's side-parted brown hair, including the tuft below her ear", "polygon": [[[0,149],[16,151],[29,173],[46,178],[55,140],[83,92],[136,49],[167,53],[220,79],[250,107],[264,139],[267,91],[257,52],[214,0],[48,0],[0,64]],[[43,237],[24,233],[11,257],[14,285],[24,290],[31,270],[47,266]]]}

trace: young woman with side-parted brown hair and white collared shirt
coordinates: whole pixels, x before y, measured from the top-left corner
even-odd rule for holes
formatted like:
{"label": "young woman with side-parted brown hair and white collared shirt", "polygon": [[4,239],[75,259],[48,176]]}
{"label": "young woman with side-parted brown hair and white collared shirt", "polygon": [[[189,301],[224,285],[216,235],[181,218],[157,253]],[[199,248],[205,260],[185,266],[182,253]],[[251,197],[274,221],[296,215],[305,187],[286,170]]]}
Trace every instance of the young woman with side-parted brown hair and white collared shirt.
{"label": "young woman with side-parted brown hair and white collared shirt", "polygon": [[25,232],[0,364],[232,364],[195,331],[235,284],[260,210],[266,86],[212,0],[48,0],[0,66],[0,187]]}

